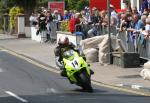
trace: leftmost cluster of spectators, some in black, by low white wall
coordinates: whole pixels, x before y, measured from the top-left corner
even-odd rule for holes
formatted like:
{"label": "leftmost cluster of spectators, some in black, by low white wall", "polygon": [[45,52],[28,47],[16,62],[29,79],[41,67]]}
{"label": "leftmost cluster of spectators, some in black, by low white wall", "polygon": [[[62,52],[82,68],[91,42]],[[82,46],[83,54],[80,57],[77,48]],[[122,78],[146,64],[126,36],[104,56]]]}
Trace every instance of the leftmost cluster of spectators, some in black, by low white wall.
{"label": "leftmost cluster of spectators, some in black, by low white wall", "polygon": [[30,21],[30,26],[36,27],[37,32],[36,35],[39,35],[42,31],[47,31],[47,41],[49,41],[50,34],[51,34],[51,22],[57,23],[57,28],[58,28],[58,23],[59,21],[62,21],[62,15],[58,12],[58,10],[55,10],[53,13],[51,10],[41,7],[38,12],[34,12],[31,14],[29,21]]}

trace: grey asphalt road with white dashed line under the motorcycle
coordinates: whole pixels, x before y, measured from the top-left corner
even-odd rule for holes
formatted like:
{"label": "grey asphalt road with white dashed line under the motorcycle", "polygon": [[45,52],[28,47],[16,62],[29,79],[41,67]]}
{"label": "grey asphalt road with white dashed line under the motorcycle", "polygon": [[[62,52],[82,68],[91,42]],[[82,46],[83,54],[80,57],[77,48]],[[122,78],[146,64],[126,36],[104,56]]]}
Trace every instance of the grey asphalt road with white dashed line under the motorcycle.
{"label": "grey asphalt road with white dashed line under the motorcycle", "polygon": [[149,103],[150,97],[93,85],[86,93],[59,74],[0,51],[0,103]]}

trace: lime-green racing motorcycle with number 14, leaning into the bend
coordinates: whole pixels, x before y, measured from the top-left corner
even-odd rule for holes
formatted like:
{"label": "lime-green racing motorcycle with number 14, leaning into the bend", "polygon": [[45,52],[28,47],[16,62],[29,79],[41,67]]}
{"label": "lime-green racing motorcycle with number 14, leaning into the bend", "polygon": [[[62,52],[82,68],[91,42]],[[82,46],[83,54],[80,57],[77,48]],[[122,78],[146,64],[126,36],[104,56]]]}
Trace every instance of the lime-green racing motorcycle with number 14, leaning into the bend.
{"label": "lime-green racing motorcycle with number 14, leaning into the bend", "polygon": [[67,50],[63,53],[63,63],[67,78],[72,84],[81,86],[87,92],[93,92],[91,86],[90,66],[75,50]]}

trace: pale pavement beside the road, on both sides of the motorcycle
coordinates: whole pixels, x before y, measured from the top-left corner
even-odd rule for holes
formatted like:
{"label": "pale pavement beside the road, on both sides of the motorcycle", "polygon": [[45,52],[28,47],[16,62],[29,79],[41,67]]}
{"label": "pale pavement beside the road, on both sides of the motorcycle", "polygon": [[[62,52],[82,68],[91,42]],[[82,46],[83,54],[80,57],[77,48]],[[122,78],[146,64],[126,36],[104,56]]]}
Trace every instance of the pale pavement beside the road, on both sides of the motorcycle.
{"label": "pale pavement beside the road, on both sides of the motorcycle", "polygon": [[[55,70],[54,48],[56,44],[39,43],[30,38],[18,39],[15,36],[0,34],[0,48],[25,56],[38,63],[49,66]],[[92,76],[93,83],[110,88],[120,88],[125,91],[137,91],[139,94],[150,96],[150,80],[144,80],[140,76],[139,68],[121,68],[115,65],[101,65],[90,63],[91,69],[95,72]]]}

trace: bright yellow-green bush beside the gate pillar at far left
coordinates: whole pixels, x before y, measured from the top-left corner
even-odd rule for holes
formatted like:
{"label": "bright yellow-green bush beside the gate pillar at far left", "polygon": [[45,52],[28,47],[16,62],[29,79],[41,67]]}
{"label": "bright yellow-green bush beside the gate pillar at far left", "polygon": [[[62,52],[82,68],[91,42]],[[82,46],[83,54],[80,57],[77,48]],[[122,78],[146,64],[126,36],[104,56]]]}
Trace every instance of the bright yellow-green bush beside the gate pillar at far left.
{"label": "bright yellow-green bush beside the gate pillar at far left", "polygon": [[15,27],[16,25],[16,17],[19,13],[23,13],[24,9],[21,7],[12,7],[9,11],[9,16],[10,16],[10,26]]}

